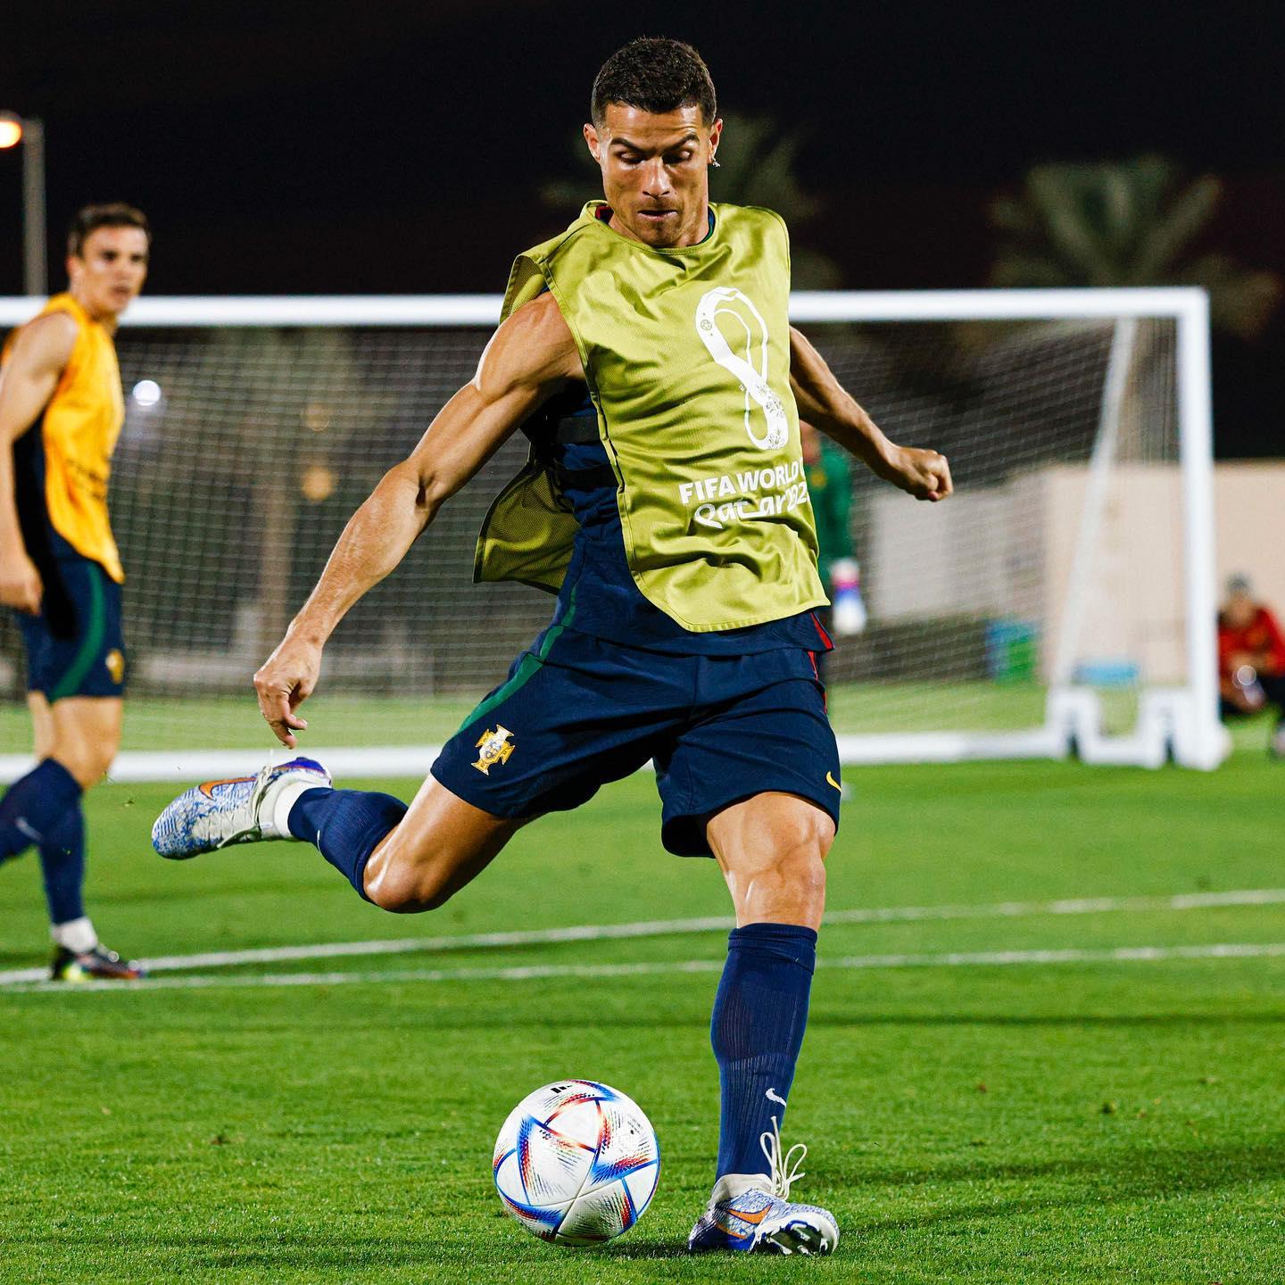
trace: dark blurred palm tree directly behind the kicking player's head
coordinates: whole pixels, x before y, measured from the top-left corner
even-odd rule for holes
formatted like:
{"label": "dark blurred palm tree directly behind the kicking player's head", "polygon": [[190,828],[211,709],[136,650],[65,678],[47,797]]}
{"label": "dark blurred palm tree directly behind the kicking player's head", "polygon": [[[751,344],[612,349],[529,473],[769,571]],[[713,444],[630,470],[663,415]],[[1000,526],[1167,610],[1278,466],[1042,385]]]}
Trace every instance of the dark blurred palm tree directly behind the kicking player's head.
{"label": "dark blurred palm tree directly behind the kicking player's head", "polygon": [[[799,182],[794,164],[801,135],[783,130],[767,116],[723,117],[718,167],[709,172],[709,195],[734,206],[766,206],[790,229],[790,267],[794,289],[824,290],[839,284],[834,260],[802,244],[799,229],[815,218],[821,202]],[[576,177],[555,179],[541,189],[541,199],[556,209],[574,211],[590,197],[601,195],[596,166],[580,134],[572,140]]]}

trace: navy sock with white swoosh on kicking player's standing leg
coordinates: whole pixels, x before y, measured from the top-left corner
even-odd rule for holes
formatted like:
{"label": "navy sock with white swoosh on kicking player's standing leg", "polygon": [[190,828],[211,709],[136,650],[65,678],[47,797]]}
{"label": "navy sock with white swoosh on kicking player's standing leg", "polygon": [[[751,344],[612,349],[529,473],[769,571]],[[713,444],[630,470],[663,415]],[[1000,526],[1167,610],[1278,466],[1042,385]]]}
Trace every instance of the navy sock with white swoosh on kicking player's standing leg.
{"label": "navy sock with white swoosh on kicking player's standing leg", "polygon": [[767,1171],[759,1137],[774,1115],[784,1123],[815,968],[811,928],[747,924],[727,938],[709,1032],[722,1087],[718,1177]]}

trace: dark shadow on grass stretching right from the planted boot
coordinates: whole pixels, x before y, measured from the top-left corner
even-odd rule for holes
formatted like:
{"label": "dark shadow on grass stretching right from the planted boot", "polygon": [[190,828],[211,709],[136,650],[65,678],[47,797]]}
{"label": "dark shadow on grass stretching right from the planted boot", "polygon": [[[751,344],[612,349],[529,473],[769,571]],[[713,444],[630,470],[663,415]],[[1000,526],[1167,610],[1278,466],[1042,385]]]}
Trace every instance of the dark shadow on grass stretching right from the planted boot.
{"label": "dark shadow on grass stretching right from the planted boot", "polygon": [[1285,1178],[1285,1136],[1253,1146],[1137,1148],[1072,1160],[1041,1160],[1027,1164],[943,1164],[930,1169],[870,1169],[852,1167],[828,1174],[835,1186],[908,1187],[921,1183],[962,1182],[974,1190],[978,1182],[1073,1182],[1076,1191],[1059,1196],[1001,1199],[955,1204],[944,1196],[941,1208],[910,1217],[875,1218],[856,1231],[908,1231],[974,1218],[1001,1218],[1036,1209],[1087,1204],[1118,1204],[1127,1200],[1156,1200],[1167,1196],[1200,1195],[1227,1187]]}

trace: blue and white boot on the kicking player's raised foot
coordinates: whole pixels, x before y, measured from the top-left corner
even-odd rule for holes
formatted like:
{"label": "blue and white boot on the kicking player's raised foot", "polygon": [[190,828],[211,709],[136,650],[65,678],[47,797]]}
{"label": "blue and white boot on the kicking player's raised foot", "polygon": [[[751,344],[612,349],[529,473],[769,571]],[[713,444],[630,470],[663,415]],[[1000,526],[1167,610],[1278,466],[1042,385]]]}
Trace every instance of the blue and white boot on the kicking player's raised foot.
{"label": "blue and white boot on the kicking player's raised foot", "polygon": [[311,758],[292,758],[256,776],[193,785],[157,817],[152,847],[171,861],[186,861],[233,843],[289,839],[275,811],[278,799],[292,785],[329,788],[330,774]]}

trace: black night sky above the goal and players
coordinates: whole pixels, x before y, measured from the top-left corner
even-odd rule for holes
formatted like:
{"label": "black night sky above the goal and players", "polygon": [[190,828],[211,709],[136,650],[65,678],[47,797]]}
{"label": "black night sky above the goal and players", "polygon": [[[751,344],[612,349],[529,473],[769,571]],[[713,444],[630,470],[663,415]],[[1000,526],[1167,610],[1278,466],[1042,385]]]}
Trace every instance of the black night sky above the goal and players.
{"label": "black night sky above the goal and players", "polygon": [[[846,287],[984,284],[987,203],[1028,166],[1142,152],[1222,176],[1210,248],[1285,275],[1267,4],[53,0],[0,24],[0,108],[45,121],[54,242],[90,199],[148,211],[152,293],[497,290],[574,213],[540,185],[639,33],[694,42],[725,111],[803,131],[825,206],[795,242]],[[0,153],[0,294],[21,292],[19,195]],[[1217,342],[1216,386],[1219,454],[1285,454],[1285,308]]]}

